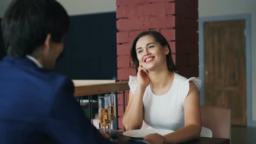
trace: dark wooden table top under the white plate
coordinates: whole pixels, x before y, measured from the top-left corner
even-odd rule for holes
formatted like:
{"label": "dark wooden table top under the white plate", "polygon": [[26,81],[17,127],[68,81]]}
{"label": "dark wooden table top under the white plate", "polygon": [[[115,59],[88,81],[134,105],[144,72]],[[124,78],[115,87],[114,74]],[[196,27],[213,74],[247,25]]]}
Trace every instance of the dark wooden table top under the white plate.
{"label": "dark wooden table top under the white plate", "polygon": [[[133,140],[130,137],[127,137],[122,134],[122,132],[118,133],[118,143],[132,143],[135,140]],[[230,139],[225,138],[209,138],[209,137],[200,137],[199,140],[194,141],[188,141],[181,144],[230,144]]]}

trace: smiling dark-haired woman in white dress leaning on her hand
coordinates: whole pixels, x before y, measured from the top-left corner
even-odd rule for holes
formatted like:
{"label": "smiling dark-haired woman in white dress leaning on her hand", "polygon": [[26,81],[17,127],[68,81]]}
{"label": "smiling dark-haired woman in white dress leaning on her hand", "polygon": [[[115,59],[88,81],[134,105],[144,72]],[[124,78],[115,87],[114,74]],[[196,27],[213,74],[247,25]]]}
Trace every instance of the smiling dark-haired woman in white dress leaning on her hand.
{"label": "smiling dark-haired woman in white dress leaning on her hand", "polygon": [[164,136],[144,137],[150,144],[175,144],[200,137],[201,81],[178,74],[164,36],[155,31],[140,33],[130,53],[137,77],[129,80],[129,101],[122,120],[126,130],[140,129],[143,120],[152,128],[174,130]]}

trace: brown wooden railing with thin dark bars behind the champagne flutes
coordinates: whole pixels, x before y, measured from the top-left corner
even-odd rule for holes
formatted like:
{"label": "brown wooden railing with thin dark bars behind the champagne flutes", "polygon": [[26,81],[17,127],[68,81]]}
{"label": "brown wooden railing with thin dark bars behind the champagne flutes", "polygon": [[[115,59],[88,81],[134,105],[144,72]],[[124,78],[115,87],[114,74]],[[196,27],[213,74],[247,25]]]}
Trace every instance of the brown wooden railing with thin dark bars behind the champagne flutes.
{"label": "brown wooden railing with thin dark bars behind the champagne flutes", "polygon": [[[92,97],[99,96],[106,93],[115,93],[115,101],[116,101],[116,118],[113,121],[113,128],[118,130],[118,93],[122,93],[123,95],[123,109],[125,112],[125,91],[129,90],[128,82],[115,82],[115,80],[73,80],[75,85],[75,93],[74,96],[80,102],[83,108],[89,107],[89,118],[92,121],[92,107],[97,106],[97,104],[92,104]],[[83,105],[83,99],[89,99],[89,105]],[[100,124],[99,124],[100,125]],[[100,128],[100,126],[99,126]]]}

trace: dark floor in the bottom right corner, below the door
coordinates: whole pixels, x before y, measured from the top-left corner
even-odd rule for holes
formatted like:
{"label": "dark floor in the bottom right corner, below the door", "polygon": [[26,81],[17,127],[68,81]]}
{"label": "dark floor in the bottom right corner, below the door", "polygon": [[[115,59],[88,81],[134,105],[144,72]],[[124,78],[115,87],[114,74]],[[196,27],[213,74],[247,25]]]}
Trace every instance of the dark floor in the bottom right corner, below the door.
{"label": "dark floor in the bottom right corner, below the door", "polygon": [[231,144],[256,144],[256,128],[232,126]]}

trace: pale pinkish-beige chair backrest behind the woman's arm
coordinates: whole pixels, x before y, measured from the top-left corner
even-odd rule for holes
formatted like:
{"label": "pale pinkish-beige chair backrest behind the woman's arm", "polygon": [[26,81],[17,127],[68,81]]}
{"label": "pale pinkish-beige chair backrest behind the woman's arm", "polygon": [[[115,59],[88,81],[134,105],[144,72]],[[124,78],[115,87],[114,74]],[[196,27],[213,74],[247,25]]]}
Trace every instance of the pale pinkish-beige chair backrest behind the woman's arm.
{"label": "pale pinkish-beige chair backrest behind the woman's arm", "polygon": [[201,105],[202,126],[213,132],[213,137],[230,139],[230,109]]}

